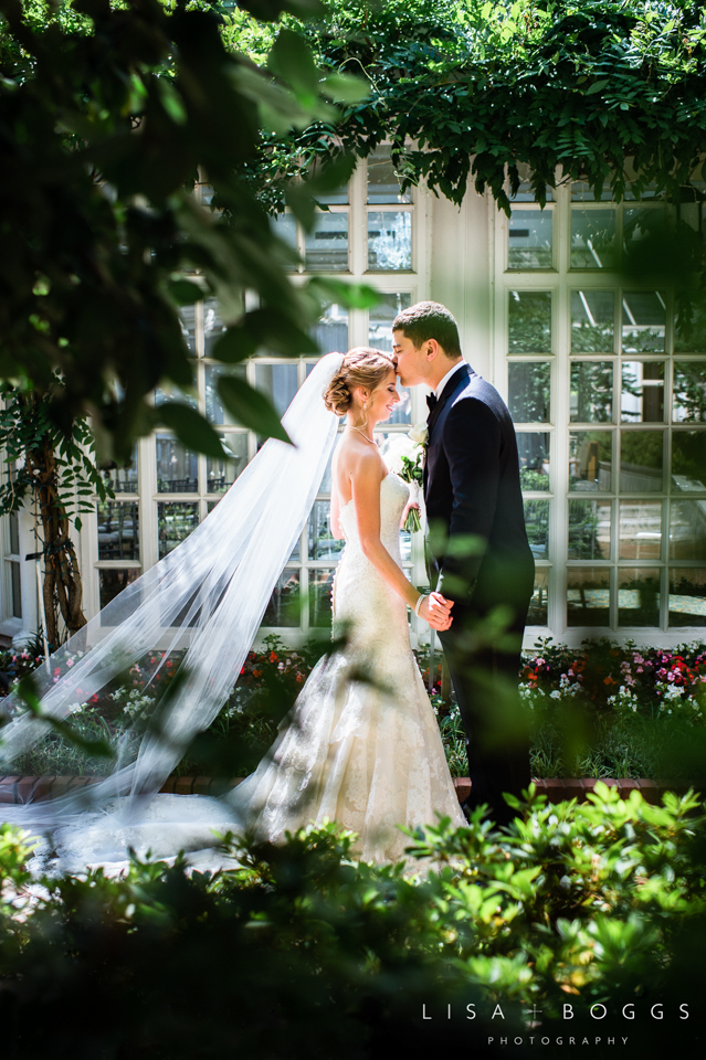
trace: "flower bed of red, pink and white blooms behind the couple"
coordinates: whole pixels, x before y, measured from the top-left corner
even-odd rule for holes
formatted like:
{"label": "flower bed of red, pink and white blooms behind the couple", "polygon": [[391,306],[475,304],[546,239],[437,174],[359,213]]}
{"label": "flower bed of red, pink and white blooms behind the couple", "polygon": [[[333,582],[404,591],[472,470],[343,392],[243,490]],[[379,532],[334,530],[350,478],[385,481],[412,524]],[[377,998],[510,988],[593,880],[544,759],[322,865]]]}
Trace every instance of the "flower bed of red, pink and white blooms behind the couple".
{"label": "flower bed of red, pink and white blooms behind the couple", "polygon": [[[310,640],[295,650],[276,635],[266,637],[264,648],[249,653],[218,718],[194,740],[176,773],[232,777],[252,772],[326,648],[325,642]],[[422,646],[415,654],[429,687],[429,648]],[[64,665],[75,661],[70,657]],[[102,739],[116,751],[120,743],[123,761],[129,761],[141,725],[179,661],[179,653],[150,653],[72,714],[77,734],[83,740]],[[40,654],[31,647],[0,654],[0,668],[14,680],[41,664]],[[446,759],[452,775],[464,776],[465,734],[453,696],[442,697],[439,654],[433,668],[431,700]],[[57,670],[54,676],[60,675]],[[698,756],[706,752],[705,645],[664,651],[602,638],[572,649],[547,638],[527,657],[520,678],[520,695],[534,719],[533,776],[691,780],[698,775]],[[105,760],[50,733],[22,756],[14,771],[99,775]]]}

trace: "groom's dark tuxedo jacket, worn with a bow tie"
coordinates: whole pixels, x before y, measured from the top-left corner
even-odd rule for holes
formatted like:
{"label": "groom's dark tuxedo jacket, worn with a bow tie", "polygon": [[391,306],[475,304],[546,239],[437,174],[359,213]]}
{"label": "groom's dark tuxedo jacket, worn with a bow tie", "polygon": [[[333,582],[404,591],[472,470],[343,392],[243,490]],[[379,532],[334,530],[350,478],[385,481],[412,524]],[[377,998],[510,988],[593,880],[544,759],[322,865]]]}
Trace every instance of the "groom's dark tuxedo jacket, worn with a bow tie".
{"label": "groom's dark tuxedo jacket, worn with a bow tie", "polygon": [[[441,523],[450,542],[444,554],[428,559],[432,587],[456,601],[454,613],[526,606],[535,563],[515,428],[498,392],[468,364],[454,372],[429,417],[424,504],[430,527]],[[471,536],[474,554],[454,554],[454,539],[463,545],[459,539]]]}

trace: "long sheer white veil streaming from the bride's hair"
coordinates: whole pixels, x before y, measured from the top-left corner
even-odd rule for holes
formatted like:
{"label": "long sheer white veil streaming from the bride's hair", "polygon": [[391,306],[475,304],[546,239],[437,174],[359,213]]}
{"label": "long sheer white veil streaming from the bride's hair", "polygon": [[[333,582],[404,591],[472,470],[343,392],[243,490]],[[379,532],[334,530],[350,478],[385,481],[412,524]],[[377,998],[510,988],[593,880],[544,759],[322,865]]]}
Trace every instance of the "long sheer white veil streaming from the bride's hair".
{"label": "long sheer white veil streaming from the bride's hair", "polygon": [[[137,759],[119,761],[91,788],[93,808],[115,796],[122,816],[159,791],[196,733],[208,728],[229,696],[255,639],[283,568],[302,532],[336,437],[337,417],[322,396],[343,353],[314,367],[282,423],[293,445],[268,439],[207,519],[178,548],[128,585],[51,656],[34,678],[42,713],[65,719],[152,651],[150,680],[169,651],[185,645],[182,680],[169,698],[159,731],[145,733]],[[154,651],[166,645],[166,655]],[[2,706],[12,720],[0,730],[3,768],[48,732],[22,711],[17,692]],[[8,822],[60,825],[86,812],[86,794],[3,807]]]}

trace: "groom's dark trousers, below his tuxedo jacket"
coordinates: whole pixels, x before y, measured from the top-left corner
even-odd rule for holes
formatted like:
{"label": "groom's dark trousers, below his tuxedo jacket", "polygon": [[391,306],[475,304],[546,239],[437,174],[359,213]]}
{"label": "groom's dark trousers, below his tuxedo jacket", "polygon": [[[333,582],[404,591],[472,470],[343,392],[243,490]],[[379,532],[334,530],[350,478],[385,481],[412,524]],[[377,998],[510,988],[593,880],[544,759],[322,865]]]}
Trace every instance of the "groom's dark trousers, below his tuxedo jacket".
{"label": "groom's dark trousers, below his tuxedo jacket", "polygon": [[513,621],[496,645],[484,635],[487,611],[461,601],[451,629],[439,634],[466,732],[471,795],[464,808],[488,803],[497,824],[514,816],[503,792],[520,796],[530,782],[530,740],[518,689],[529,598],[510,606]]}

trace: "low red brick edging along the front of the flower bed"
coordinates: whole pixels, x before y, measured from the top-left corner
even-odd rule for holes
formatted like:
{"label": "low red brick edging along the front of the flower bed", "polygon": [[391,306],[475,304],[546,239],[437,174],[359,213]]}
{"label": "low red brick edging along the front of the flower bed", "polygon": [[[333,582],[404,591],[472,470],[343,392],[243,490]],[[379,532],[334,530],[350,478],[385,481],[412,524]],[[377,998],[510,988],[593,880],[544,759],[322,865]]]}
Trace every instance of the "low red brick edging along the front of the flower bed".
{"label": "low red brick edging along the front of the flower bed", "polygon": [[[102,776],[0,776],[0,804],[44,802],[57,798],[70,792],[80,792],[92,784],[104,780]],[[222,795],[223,792],[235,787],[243,777],[215,776],[169,776],[162,784],[160,792],[168,795]],[[608,787],[617,787],[621,798],[628,798],[631,792],[640,792],[647,803],[660,803],[665,792],[685,792],[689,787],[698,787],[687,781],[650,781],[650,780],[614,780],[602,778]],[[459,802],[462,803],[471,794],[471,781],[467,776],[455,776],[453,780]],[[565,798],[577,798],[583,802],[598,784],[596,777],[540,777],[534,781],[537,791],[546,795],[550,803],[560,803]]]}

